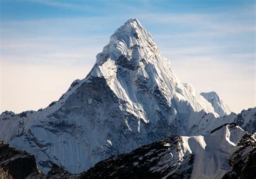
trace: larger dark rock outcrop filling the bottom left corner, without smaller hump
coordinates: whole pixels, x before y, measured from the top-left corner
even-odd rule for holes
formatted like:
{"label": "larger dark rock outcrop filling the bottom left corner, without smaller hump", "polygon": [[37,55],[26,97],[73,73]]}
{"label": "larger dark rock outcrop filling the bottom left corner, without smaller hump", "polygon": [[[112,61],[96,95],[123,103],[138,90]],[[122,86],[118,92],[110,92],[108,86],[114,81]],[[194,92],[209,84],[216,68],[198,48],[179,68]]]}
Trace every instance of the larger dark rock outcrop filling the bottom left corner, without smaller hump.
{"label": "larger dark rock outcrop filling the bottom left corner, without smaller hump", "polygon": [[3,178],[27,178],[43,175],[37,168],[35,156],[18,151],[9,144],[0,145],[0,177]]}

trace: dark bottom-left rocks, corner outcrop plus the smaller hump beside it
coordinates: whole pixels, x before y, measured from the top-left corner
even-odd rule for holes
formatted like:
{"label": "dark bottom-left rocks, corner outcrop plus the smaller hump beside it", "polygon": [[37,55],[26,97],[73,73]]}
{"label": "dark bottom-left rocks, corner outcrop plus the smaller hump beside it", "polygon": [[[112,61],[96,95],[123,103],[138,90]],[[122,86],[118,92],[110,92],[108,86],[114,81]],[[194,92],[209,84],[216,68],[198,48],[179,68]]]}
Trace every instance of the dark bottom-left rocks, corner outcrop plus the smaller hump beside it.
{"label": "dark bottom-left rocks, corner outcrop plus the smaller hump beside it", "polygon": [[51,171],[47,175],[37,168],[35,156],[27,152],[19,151],[9,144],[0,141],[0,178],[78,178],[79,175],[71,174],[62,167],[52,163]]}

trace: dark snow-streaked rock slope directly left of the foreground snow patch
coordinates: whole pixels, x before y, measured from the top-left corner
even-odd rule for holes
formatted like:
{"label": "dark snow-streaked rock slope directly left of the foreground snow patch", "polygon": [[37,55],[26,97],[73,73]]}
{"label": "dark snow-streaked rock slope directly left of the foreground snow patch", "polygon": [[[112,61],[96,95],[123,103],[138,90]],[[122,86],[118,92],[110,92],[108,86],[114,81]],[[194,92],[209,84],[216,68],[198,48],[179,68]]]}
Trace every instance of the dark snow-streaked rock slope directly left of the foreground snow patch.
{"label": "dark snow-streaked rock slope directly left of the foreground snow patch", "polygon": [[173,160],[170,152],[181,154],[180,136],[157,141],[128,154],[117,155],[97,163],[81,178],[190,178],[194,155]]}

